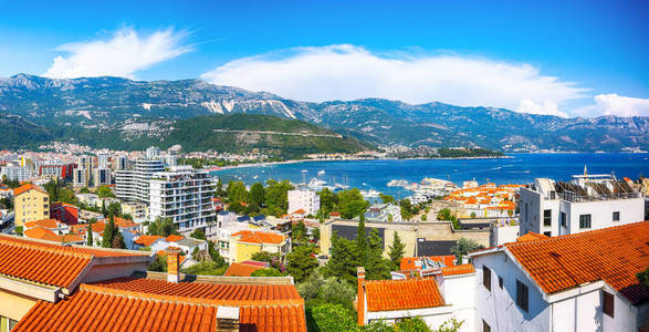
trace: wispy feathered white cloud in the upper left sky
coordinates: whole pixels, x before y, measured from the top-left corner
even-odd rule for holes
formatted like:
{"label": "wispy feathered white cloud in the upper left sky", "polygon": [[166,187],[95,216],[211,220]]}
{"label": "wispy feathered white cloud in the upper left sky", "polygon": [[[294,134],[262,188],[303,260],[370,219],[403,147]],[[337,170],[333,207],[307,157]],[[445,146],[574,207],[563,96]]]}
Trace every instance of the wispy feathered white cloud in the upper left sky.
{"label": "wispy feathered white cloud in the upper left sky", "polygon": [[142,37],[133,28],[123,28],[108,39],[64,44],[57,50],[69,55],[56,56],[44,76],[133,79],[137,71],[189,52],[190,46],[181,45],[185,37],[172,29]]}

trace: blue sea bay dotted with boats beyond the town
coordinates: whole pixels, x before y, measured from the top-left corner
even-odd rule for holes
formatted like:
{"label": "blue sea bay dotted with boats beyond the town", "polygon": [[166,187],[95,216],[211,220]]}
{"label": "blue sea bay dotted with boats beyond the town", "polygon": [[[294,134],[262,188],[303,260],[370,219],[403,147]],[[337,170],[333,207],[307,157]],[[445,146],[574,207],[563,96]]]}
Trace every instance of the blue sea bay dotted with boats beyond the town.
{"label": "blue sea bay dotted with boats beyond the town", "polygon": [[262,166],[235,167],[211,172],[223,184],[242,180],[245,185],[269,179],[289,179],[299,184],[312,178],[352,188],[374,189],[395,197],[409,191],[388,187],[392,179],[420,183],[425,177],[451,180],[462,185],[464,180],[479,184],[528,184],[538,177],[569,180],[573,175],[614,174],[618,178],[649,176],[649,154],[510,154],[506,158],[480,159],[376,159],[299,162]]}

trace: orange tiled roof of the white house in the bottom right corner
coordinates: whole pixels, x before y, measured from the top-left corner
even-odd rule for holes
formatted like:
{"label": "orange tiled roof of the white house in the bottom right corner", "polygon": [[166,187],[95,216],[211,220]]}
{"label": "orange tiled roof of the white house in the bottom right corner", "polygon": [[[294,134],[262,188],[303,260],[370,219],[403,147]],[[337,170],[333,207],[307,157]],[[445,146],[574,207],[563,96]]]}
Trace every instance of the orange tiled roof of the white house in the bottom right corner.
{"label": "orange tiled roof of the white house in the bottom right corner", "polygon": [[649,221],[504,246],[546,293],[604,280],[632,303],[649,299],[636,278],[649,267]]}

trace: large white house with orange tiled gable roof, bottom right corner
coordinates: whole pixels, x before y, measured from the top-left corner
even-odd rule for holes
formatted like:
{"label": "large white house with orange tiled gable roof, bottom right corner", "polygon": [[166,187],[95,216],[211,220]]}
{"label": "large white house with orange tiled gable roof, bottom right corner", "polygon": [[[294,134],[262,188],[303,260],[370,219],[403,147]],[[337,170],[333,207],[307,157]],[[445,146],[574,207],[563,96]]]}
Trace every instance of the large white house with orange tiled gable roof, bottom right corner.
{"label": "large white house with orange tiled gable roof, bottom right corner", "polygon": [[[648,331],[649,221],[470,253],[483,331]],[[534,239],[535,238],[535,239]]]}

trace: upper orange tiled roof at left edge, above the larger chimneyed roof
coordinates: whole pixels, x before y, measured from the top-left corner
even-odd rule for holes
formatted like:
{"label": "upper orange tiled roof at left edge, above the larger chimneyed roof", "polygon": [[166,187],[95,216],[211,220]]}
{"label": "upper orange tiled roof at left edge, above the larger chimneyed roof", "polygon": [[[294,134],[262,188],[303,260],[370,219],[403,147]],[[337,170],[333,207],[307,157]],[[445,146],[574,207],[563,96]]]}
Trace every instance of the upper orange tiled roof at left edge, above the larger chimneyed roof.
{"label": "upper orange tiled roof at left edge, above the larger chimneyed roof", "polygon": [[93,257],[144,256],[132,251],[70,247],[0,235],[0,274],[69,288]]}

